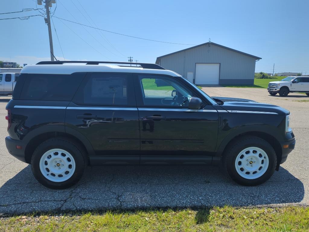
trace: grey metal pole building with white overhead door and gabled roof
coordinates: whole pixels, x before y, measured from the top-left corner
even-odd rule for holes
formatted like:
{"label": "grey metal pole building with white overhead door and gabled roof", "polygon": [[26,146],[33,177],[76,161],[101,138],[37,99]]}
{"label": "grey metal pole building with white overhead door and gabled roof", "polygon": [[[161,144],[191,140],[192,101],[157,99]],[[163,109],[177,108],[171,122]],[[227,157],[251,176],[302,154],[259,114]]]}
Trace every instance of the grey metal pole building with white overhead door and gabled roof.
{"label": "grey metal pole building with white overhead door and gabled roof", "polygon": [[160,56],[156,64],[194,84],[253,84],[255,62],[262,58],[207,42]]}

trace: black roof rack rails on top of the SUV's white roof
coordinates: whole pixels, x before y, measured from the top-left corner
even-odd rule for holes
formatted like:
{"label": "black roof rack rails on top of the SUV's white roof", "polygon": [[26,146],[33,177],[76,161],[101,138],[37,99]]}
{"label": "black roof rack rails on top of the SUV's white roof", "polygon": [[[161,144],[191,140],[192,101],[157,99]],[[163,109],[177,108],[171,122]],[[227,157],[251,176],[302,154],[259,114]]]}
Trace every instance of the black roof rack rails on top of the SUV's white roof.
{"label": "black roof rack rails on top of the SUV's white roof", "polygon": [[148,64],[148,63],[133,63],[133,62],[114,62],[114,61],[41,61],[37,64],[64,64],[64,63],[86,63],[86,64],[133,64],[133,65],[140,65],[142,68],[145,69],[163,69],[158,64]]}

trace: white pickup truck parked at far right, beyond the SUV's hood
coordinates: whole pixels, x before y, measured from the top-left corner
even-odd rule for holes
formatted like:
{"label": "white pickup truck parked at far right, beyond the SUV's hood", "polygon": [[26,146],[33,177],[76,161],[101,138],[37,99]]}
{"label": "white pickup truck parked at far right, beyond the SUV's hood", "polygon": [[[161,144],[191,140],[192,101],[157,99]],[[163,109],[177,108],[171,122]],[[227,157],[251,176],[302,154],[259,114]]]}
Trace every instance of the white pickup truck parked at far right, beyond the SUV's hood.
{"label": "white pickup truck parked at far right, beyond the SUV's hood", "polygon": [[281,81],[272,81],[267,90],[270,95],[279,93],[281,97],[286,97],[290,92],[304,92],[309,96],[309,76],[288,76]]}

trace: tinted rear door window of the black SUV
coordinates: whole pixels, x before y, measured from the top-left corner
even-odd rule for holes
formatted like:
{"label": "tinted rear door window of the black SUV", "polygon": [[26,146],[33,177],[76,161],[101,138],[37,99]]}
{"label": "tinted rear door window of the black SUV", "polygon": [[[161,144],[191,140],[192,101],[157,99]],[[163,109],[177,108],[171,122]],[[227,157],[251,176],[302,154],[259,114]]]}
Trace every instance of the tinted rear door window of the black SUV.
{"label": "tinted rear door window of the black SUV", "polygon": [[132,75],[89,73],[73,100],[79,105],[135,106]]}

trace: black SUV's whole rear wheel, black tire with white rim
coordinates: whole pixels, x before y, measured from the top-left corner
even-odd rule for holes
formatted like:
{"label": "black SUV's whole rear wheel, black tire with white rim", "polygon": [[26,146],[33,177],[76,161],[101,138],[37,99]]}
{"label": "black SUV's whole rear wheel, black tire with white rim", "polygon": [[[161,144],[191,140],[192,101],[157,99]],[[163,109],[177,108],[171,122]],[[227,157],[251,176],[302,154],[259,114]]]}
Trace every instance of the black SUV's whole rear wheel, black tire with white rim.
{"label": "black SUV's whole rear wheel, black tire with white rim", "polygon": [[40,144],[31,159],[32,173],[44,186],[53,189],[71,187],[79,181],[86,159],[74,141],[53,138]]}

